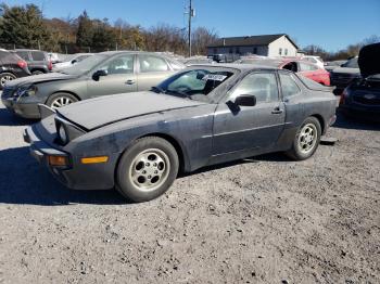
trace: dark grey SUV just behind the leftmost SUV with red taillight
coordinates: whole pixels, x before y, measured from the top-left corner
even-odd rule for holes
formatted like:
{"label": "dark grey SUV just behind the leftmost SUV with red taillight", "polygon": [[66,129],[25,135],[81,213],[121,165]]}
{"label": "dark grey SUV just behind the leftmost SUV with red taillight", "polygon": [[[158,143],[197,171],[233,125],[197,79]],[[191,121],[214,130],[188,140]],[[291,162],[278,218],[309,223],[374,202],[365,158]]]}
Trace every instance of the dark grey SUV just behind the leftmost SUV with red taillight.
{"label": "dark grey SUV just behind the leftmost SUV with red taillight", "polygon": [[45,51],[16,49],[14,52],[27,62],[31,75],[49,73],[53,67],[48,53]]}

